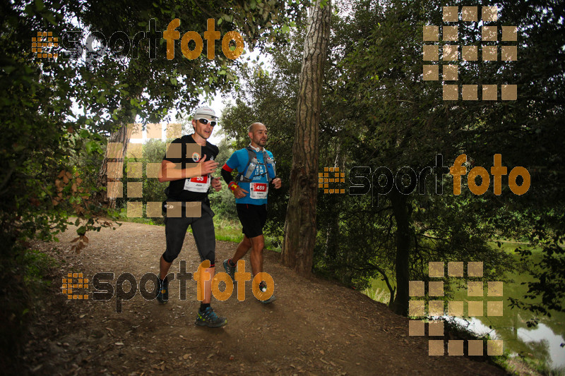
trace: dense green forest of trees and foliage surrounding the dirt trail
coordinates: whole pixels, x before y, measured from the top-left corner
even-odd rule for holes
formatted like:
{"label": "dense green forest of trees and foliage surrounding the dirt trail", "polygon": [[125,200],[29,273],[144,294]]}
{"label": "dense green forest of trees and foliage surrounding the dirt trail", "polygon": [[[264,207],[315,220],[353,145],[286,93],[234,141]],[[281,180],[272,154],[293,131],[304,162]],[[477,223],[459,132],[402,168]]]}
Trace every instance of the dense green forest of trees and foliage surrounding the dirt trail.
{"label": "dense green forest of trees and foliage surrounding the dirt trail", "polygon": [[[30,250],[28,242],[53,240],[72,217],[79,226],[80,251],[88,243],[88,231],[112,226],[112,217],[126,219],[126,184],[124,198],[107,200],[108,142],[124,145],[124,176],[129,163],[160,162],[165,154],[166,142],[150,140],[141,158],[129,159],[126,124],[173,123],[167,115],[172,109],[188,116],[201,104],[202,95],[222,92],[230,104],[221,116],[225,138],[219,143],[220,165],[246,145],[247,126],[261,121],[269,129],[268,149],[277,159],[278,174],[290,181],[308,5],[274,0],[206,1],[202,6],[196,1],[138,1],[135,6],[2,2],[0,291],[6,308],[1,319],[10,323],[2,327],[3,348],[13,346],[8,339],[25,330],[32,317],[33,291],[41,284],[43,256]],[[459,11],[475,6],[479,18],[444,23],[444,6],[458,6]],[[422,59],[424,25],[458,25],[459,43],[481,52],[483,6],[498,8],[498,37],[489,43],[497,46],[497,59],[482,61],[479,53],[477,61],[452,61],[457,83],[478,85],[478,99],[463,101],[459,95],[444,100],[441,80],[422,79],[424,65],[441,65],[441,60]],[[391,309],[408,315],[408,281],[429,281],[428,262],[480,261],[484,281],[504,280],[510,271],[533,275],[527,295],[513,305],[532,310],[534,317],[562,312],[564,14],[559,1],[542,0],[333,4],[319,96],[319,142],[309,146],[317,153],[318,172],[324,167],[345,172],[346,183],[334,183],[345,193],[322,193],[318,175],[311,176],[308,183],[316,183],[319,190],[312,219],[315,246],[307,250],[311,268],[300,272],[357,289],[371,279],[383,279]],[[150,20],[156,20],[156,30],[165,30],[174,18],[181,20],[181,35],[188,30],[203,35],[208,18],[216,20],[221,35],[237,30],[246,47],[270,56],[269,69],[246,61],[245,55],[227,59],[219,42],[215,59],[206,58],[206,44],[195,60],[186,59],[177,45],[169,61],[163,57],[165,40],[148,38],[126,51],[124,39],[112,43],[103,37],[124,32],[134,40],[139,30],[158,35]],[[501,26],[509,25],[516,26],[517,41],[500,42]],[[85,51],[81,59],[40,59],[30,41],[37,31],[47,30],[52,35],[73,30],[81,33],[79,42],[90,35],[105,49]],[[61,37],[64,43],[71,42]],[[430,44],[441,51],[453,42],[440,33]],[[516,61],[502,61],[502,45],[516,46]],[[483,84],[497,85],[496,100],[481,100]],[[501,100],[500,88],[506,84],[517,85],[516,100]],[[183,121],[189,130],[189,117]],[[454,195],[447,171],[441,183],[410,176],[410,171],[435,172],[438,154],[445,166],[466,154],[467,174],[474,166],[490,172],[494,154],[501,154],[508,173],[516,166],[529,171],[530,187],[516,195],[503,176],[497,194],[490,176],[489,188],[475,195],[463,175],[461,193]],[[387,186],[391,179],[376,174],[379,167],[392,171],[396,184]],[[143,174],[137,180],[143,183],[141,201],[162,201],[165,187],[146,178],[145,170]],[[482,185],[482,178],[476,185]],[[299,216],[287,210],[289,186],[270,192],[266,226],[270,245],[283,248],[283,253],[287,216]],[[415,190],[408,194],[409,188]],[[377,195],[379,191],[383,194]],[[211,199],[220,220],[237,224],[227,189]],[[501,243],[491,245],[507,239],[527,246],[509,251]]]}

